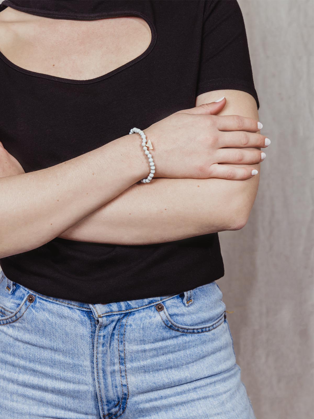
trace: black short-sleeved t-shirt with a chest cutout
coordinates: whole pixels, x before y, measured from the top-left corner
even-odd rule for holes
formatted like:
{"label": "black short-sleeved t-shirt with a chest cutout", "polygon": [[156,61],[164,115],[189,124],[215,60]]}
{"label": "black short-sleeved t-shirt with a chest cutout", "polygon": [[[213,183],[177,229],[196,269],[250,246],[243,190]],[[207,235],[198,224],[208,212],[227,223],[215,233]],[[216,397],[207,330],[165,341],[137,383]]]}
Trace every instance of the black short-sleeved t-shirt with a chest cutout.
{"label": "black short-sleeved t-shirt with a chest cutout", "polygon": [[[242,90],[259,108],[237,1],[5,0],[0,10],[6,6],[61,19],[139,16],[152,32],[143,54],[90,80],[25,70],[0,52],[0,139],[26,172],[192,108],[206,91]],[[142,187],[149,202],[149,185]],[[31,290],[86,303],[180,293],[224,275],[218,233],[141,246],[54,238],[0,265]]]}

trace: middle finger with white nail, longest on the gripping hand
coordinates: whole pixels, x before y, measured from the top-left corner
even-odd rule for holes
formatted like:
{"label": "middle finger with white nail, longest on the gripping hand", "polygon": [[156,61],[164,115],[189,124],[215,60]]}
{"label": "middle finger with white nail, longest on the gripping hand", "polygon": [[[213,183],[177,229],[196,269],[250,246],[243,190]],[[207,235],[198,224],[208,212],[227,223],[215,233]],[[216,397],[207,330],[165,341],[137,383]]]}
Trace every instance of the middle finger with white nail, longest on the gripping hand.
{"label": "middle finger with white nail, longest on the gripping hand", "polygon": [[234,131],[219,134],[220,147],[268,147],[270,139],[255,132]]}

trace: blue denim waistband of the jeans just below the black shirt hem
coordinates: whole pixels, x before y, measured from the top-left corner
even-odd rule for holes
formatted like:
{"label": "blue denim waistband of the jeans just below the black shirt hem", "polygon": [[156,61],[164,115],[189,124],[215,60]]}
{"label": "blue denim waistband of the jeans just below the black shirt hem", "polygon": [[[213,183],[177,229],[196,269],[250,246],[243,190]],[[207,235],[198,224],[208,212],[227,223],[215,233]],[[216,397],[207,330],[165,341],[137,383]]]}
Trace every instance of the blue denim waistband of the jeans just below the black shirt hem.
{"label": "blue denim waistband of the jeans just below the black shirt hem", "polygon": [[0,272],[0,286],[5,287],[5,290],[9,294],[12,294],[14,290],[18,288],[19,291],[24,292],[25,295],[27,294],[37,295],[41,298],[44,298],[45,300],[51,301],[51,303],[66,305],[68,307],[76,308],[78,310],[92,310],[95,317],[103,317],[108,314],[114,314],[114,313],[118,314],[118,313],[133,311],[133,310],[139,310],[141,308],[148,307],[149,305],[155,305],[161,301],[168,300],[180,294],[180,293],[177,293],[177,294],[170,294],[170,295],[161,295],[158,297],[142,298],[139,300],[119,301],[115,303],[106,303],[106,304],[83,303],[81,301],[65,300],[63,298],[50,297],[49,295],[40,294],[39,292],[36,292],[27,287],[24,287],[21,284],[18,284],[18,282],[11,281],[8,277],[5,276],[3,271]]}

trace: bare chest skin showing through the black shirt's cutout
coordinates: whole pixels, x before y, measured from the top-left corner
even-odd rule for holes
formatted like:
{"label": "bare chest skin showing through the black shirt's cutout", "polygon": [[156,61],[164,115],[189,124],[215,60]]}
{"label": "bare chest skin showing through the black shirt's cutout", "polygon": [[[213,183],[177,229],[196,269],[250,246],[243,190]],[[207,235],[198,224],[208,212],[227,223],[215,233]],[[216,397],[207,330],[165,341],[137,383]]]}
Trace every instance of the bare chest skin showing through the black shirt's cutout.
{"label": "bare chest skin showing through the black shirt's cutout", "polygon": [[14,33],[6,27],[0,51],[8,60],[28,71],[71,80],[107,75],[140,57],[152,40],[148,23],[137,16],[72,21],[28,15],[23,24],[15,24]]}

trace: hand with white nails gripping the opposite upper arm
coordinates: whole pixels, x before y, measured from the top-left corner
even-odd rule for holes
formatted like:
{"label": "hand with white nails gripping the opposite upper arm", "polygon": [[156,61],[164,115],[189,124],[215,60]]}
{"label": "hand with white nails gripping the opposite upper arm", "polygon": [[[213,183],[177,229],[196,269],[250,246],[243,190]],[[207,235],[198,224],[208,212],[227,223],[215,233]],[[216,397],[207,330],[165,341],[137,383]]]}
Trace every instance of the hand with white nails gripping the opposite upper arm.
{"label": "hand with white nails gripping the opposite upper arm", "polygon": [[262,152],[241,147],[266,147],[266,137],[258,133],[255,119],[215,115],[225,105],[224,98],[180,110],[144,129],[153,146],[155,177],[242,180],[254,176],[249,165],[263,161]]}

